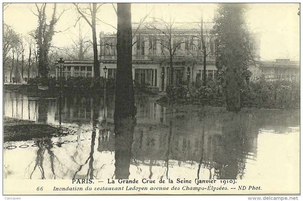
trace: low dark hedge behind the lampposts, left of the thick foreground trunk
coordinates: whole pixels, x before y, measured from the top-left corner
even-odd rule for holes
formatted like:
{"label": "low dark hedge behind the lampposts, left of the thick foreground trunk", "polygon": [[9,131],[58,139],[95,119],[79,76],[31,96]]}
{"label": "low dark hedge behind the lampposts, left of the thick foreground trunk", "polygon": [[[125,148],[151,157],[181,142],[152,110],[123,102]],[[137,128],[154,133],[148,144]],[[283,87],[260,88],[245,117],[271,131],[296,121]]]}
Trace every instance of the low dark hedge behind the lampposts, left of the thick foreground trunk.
{"label": "low dark hedge behind the lampposts, left of the thick foreground trunk", "polygon": [[[105,83],[106,82],[106,83]],[[55,87],[59,86],[60,79],[56,77],[35,77],[28,79],[29,85],[34,86],[45,86],[45,87]],[[105,79],[104,77],[62,77],[62,86],[64,87],[84,87],[90,88],[93,91],[103,91],[104,85],[110,91],[115,89],[115,80],[112,78]]]}

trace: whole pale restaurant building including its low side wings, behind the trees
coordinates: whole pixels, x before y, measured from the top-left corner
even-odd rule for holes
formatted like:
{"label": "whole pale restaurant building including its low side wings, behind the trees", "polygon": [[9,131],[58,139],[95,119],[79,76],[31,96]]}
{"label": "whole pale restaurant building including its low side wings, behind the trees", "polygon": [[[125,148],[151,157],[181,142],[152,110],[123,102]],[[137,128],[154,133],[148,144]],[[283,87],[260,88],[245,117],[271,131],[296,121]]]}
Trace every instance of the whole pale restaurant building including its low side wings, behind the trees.
{"label": "whole pale restaurant building including its low side wings, behind the trees", "polygon": [[[215,66],[215,35],[211,35],[213,23],[206,22],[203,40],[207,47],[206,74],[208,79],[216,76]],[[200,37],[200,28],[190,23],[174,23],[171,29],[165,25],[133,25],[132,67],[133,79],[137,84],[148,87],[151,91],[165,91],[170,83],[168,40],[167,33],[171,33],[171,46],[175,50],[173,56],[173,83],[182,84],[186,81],[201,80],[203,76],[203,53]],[[298,62],[276,60],[260,62],[261,35],[251,35],[252,58],[249,70],[253,73],[252,79],[263,76],[272,79],[285,70],[285,77],[289,80],[300,80]],[[117,35],[100,33],[100,76],[105,76],[103,68],[108,68],[106,77],[116,77],[117,69]],[[56,64],[56,77],[58,77],[58,63]],[[63,76],[92,77],[94,76],[93,61],[65,61]],[[284,72],[284,71],[283,71]],[[283,74],[283,72],[281,72]],[[277,77],[277,76],[276,76]]]}

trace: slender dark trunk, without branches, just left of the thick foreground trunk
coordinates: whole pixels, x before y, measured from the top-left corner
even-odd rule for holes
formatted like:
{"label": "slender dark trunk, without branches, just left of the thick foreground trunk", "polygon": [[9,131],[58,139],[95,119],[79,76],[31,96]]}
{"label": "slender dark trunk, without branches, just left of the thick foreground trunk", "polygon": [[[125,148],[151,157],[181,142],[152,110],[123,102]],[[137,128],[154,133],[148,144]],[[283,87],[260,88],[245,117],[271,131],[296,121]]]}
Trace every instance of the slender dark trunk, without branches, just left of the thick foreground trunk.
{"label": "slender dark trunk, without branches, just left of the thick foreground trunk", "polygon": [[93,51],[94,51],[94,77],[99,77],[100,69],[99,69],[99,61],[98,61],[98,48],[97,48],[97,36],[96,36],[96,12],[97,12],[97,3],[93,3],[92,32],[93,32]]}

